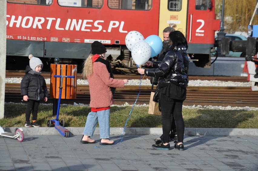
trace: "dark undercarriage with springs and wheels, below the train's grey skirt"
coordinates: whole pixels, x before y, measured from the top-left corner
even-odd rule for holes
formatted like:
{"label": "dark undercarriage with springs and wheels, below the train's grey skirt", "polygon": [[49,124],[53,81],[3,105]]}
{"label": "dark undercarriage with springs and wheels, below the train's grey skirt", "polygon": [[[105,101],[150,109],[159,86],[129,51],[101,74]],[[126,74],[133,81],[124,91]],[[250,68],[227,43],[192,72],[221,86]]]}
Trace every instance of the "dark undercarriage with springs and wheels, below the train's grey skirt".
{"label": "dark undercarriage with springs and wheels, below the train's grey skirt", "polygon": [[[189,60],[193,60],[196,66],[207,66],[209,63],[209,55],[205,54],[189,54],[191,57]],[[206,60],[203,58],[205,57]],[[39,57],[43,63],[43,72],[50,72],[50,64],[54,63],[55,58],[44,58]],[[125,74],[125,75],[137,75],[137,66],[131,57],[131,52],[129,50],[121,50],[121,54],[117,57],[113,55],[108,55],[107,59],[111,63],[113,73],[115,74]],[[201,60],[200,60],[201,59]],[[85,59],[72,59],[72,58],[59,58],[59,63],[61,64],[72,64],[78,66],[78,73],[82,72],[83,63]],[[156,57],[154,59],[156,60]],[[6,56],[6,70],[25,70],[26,66],[29,65],[29,59],[26,56]]]}

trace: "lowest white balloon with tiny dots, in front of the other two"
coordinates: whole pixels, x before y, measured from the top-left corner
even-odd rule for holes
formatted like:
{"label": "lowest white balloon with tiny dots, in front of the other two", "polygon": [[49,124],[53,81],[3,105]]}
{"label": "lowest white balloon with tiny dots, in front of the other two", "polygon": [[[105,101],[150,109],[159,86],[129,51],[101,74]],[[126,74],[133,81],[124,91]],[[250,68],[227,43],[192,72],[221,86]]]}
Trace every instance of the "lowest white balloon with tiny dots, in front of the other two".
{"label": "lowest white balloon with tiny dots, in front of the other two", "polygon": [[151,46],[143,41],[137,42],[132,49],[132,58],[137,65],[143,65],[151,57]]}

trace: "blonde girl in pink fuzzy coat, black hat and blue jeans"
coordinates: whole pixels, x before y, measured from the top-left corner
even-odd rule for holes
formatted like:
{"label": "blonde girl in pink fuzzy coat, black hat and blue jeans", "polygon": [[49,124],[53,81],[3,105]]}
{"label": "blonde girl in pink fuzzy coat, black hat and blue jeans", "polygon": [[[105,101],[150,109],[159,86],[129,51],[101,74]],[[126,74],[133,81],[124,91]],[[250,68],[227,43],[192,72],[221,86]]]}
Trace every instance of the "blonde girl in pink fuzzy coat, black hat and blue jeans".
{"label": "blonde girl in pink fuzzy coat, black hat and blue jeans", "polygon": [[95,140],[91,139],[97,123],[100,131],[100,145],[113,145],[114,141],[109,140],[110,134],[110,105],[114,103],[111,89],[122,88],[128,82],[127,79],[114,79],[111,65],[106,60],[105,53],[107,49],[98,41],[91,44],[91,53],[84,62],[82,72],[83,78],[88,79],[91,95],[91,112],[87,116],[82,144],[93,144]]}

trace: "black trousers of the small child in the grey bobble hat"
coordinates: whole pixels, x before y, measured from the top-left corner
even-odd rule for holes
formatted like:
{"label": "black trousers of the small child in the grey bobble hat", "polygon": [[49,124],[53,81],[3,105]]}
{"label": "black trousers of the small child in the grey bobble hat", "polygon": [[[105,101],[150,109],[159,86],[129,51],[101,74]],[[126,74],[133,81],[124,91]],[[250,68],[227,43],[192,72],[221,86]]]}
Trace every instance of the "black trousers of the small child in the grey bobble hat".
{"label": "black trousers of the small child in the grey bobble hat", "polygon": [[30,121],[31,111],[32,111],[32,120],[37,120],[38,117],[38,105],[39,101],[37,100],[28,100],[27,109],[25,113],[26,122]]}

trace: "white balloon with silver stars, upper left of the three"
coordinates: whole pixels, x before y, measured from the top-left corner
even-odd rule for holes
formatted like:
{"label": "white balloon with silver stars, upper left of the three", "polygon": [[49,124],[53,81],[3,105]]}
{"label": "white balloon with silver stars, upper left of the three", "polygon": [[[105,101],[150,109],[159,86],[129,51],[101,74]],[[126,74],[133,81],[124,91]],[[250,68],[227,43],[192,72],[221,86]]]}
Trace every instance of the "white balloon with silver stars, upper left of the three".
{"label": "white balloon with silver stars, upper left of the three", "polygon": [[130,31],[129,33],[127,33],[125,37],[125,45],[130,51],[132,51],[134,45],[137,42],[143,41],[143,40],[144,40],[144,37],[141,33],[139,33],[138,31]]}

